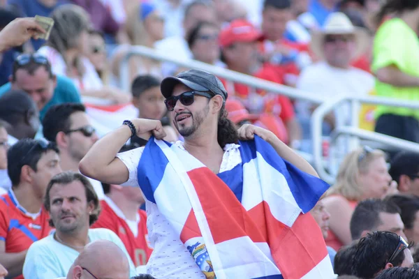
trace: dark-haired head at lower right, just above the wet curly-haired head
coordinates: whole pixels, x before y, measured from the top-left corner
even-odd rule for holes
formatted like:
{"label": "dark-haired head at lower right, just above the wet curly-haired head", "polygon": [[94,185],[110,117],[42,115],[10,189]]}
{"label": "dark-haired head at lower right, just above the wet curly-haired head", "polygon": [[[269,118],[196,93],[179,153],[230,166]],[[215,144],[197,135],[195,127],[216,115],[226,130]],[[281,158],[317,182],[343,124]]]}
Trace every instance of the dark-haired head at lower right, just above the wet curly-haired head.
{"label": "dark-haired head at lower right, just above the wet curly-haired head", "polygon": [[399,206],[390,200],[363,200],[355,207],[352,214],[352,239],[358,240],[374,231],[394,232],[406,239],[401,213]]}

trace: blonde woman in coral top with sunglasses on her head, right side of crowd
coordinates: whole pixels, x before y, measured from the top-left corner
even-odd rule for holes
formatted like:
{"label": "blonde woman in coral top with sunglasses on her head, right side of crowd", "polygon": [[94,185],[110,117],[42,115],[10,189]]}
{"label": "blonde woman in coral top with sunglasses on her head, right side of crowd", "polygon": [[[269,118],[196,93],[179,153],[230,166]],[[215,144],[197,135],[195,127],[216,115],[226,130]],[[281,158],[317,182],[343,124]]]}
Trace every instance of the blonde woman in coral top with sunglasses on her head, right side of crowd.
{"label": "blonde woman in coral top with sunglasses on her head, right side of crowd", "polygon": [[339,167],[335,185],[323,199],[331,214],[326,245],[335,250],[349,245],[349,223],[355,206],[364,199],[388,195],[391,181],[383,151],[365,146],[348,153]]}

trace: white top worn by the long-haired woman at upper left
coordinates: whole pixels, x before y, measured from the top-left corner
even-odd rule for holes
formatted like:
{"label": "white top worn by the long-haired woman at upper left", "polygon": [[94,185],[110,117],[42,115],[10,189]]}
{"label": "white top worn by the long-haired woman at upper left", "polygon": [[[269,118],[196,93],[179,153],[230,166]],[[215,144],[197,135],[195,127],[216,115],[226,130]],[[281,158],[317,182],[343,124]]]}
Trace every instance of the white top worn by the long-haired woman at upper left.
{"label": "white top worn by the long-haired woman at upper left", "polygon": [[[47,45],[41,47],[38,53],[43,54],[50,61],[52,66],[52,73],[55,75],[64,75],[67,77],[67,66],[63,59],[63,56],[52,47]],[[79,89],[101,89],[103,82],[99,77],[98,73],[94,69],[92,63],[86,57],[82,57],[82,63],[84,66],[84,75],[82,78],[69,77],[73,80],[75,86]]]}

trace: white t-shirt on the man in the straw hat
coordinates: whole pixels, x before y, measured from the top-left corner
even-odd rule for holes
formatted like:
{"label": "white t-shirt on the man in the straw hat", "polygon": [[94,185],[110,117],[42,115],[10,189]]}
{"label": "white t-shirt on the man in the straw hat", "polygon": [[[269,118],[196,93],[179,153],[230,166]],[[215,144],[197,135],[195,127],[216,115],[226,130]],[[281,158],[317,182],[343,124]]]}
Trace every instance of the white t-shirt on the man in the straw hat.
{"label": "white t-shirt on the man in the straw hat", "polygon": [[[325,61],[307,66],[297,82],[297,88],[323,96],[325,99],[337,96],[367,96],[374,89],[374,77],[358,68],[335,68]],[[307,114],[310,104],[297,102],[297,112]],[[344,103],[335,109],[336,126],[351,121],[351,107]]]}

